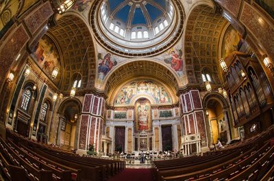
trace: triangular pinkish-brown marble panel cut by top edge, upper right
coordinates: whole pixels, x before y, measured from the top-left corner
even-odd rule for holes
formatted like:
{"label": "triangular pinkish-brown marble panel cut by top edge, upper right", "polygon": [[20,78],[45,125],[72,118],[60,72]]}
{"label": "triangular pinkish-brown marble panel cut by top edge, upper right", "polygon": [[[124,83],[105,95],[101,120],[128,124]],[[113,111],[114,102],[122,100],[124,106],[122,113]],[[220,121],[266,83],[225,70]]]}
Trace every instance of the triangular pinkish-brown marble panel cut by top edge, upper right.
{"label": "triangular pinkish-brown marble panel cut by top edge, upper right", "polygon": [[242,0],[215,0],[218,2],[223,8],[228,10],[233,16],[237,17],[240,11],[240,3]]}

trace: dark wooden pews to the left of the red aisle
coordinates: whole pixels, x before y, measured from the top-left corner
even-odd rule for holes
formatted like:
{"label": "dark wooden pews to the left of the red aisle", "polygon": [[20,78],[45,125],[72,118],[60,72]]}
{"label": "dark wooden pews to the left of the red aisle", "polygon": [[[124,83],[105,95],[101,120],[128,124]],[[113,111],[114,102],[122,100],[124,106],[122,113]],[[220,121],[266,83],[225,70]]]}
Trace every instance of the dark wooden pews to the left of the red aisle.
{"label": "dark wooden pews to the left of the red aisle", "polygon": [[125,161],[82,157],[10,130],[6,135],[0,137],[0,166],[7,180],[103,181],[125,169]]}

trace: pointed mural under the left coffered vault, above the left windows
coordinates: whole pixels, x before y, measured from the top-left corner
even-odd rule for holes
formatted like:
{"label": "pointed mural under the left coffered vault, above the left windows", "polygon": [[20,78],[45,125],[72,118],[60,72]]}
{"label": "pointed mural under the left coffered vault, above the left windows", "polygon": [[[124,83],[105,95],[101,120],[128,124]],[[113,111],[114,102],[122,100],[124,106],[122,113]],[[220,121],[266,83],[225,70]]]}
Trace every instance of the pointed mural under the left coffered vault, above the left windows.
{"label": "pointed mural under the left coffered vault, above the left windows", "polygon": [[[47,35],[39,40],[31,56],[49,77],[51,77],[54,67],[58,67],[59,70],[61,70],[60,54],[57,46]],[[55,82],[58,81],[60,81],[60,73],[58,73],[58,76],[55,79]]]}

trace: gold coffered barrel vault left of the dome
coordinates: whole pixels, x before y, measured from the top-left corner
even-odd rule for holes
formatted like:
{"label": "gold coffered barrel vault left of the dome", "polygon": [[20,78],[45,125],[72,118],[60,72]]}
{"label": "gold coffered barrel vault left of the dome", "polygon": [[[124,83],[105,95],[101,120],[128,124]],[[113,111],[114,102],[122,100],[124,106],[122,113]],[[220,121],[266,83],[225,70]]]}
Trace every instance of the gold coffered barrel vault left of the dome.
{"label": "gold coffered barrel vault left of the dome", "polygon": [[96,59],[92,37],[86,24],[73,15],[66,15],[49,29],[64,55],[62,89],[69,90],[72,77],[79,72],[82,75],[82,88],[92,88],[95,84]]}

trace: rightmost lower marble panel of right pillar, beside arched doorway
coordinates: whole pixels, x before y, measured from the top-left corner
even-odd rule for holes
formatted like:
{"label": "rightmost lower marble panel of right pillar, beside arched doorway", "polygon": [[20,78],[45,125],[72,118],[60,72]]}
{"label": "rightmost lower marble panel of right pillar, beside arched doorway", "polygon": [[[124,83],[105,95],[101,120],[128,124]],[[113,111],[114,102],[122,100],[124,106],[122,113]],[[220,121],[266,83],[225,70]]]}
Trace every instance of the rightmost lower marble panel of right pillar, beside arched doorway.
{"label": "rightmost lower marble panel of right pillar, beside arched doorway", "polygon": [[205,124],[205,118],[203,117],[203,111],[196,111],[196,120],[197,120],[197,126],[198,126],[198,133],[200,133],[201,136],[201,144],[203,147],[207,146],[207,139],[206,139],[206,124]]}

